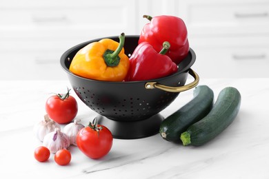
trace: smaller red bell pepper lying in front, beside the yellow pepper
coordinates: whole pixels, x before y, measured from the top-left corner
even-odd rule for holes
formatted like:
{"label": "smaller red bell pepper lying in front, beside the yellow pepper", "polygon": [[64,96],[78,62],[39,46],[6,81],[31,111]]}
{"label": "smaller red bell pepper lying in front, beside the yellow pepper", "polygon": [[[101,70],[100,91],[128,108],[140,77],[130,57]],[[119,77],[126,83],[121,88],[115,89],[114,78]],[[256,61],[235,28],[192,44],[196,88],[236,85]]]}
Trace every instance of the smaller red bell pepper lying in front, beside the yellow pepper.
{"label": "smaller red bell pepper lying in front, beside the yellow pepper", "polygon": [[130,56],[130,68],[126,81],[151,80],[177,72],[176,63],[165,55],[169,48],[170,43],[164,42],[161,52],[158,53],[148,42],[137,45]]}

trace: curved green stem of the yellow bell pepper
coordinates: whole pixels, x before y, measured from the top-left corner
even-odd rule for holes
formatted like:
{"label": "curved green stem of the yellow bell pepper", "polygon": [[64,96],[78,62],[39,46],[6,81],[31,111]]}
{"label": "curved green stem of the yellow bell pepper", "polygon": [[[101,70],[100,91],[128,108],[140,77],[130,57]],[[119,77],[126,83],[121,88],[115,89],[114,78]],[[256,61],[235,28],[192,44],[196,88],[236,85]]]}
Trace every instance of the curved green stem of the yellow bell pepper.
{"label": "curved green stem of the yellow bell pepper", "polygon": [[106,65],[112,67],[112,66],[117,66],[119,64],[119,53],[121,52],[123,45],[125,42],[125,34],[121,33],[119,36],[119,46],[117,49],[113,52],[112,50],[107,50],[105,52],[103,58],[106,61]]}

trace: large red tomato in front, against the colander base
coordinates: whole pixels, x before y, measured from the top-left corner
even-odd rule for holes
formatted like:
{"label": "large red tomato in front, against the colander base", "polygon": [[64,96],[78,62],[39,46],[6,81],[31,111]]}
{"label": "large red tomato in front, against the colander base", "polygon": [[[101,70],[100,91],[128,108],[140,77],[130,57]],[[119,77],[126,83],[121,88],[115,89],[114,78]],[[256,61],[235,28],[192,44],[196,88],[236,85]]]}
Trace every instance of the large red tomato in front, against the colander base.
{"label": "large red tomato in front, against the colander base", "polygon": [[93,159],[106,156],[112,147],[112,142],[111,131],[103,125],[97,125],[95,119],[93,124],[90,123],[77,134],[77,147],[83,154]]}

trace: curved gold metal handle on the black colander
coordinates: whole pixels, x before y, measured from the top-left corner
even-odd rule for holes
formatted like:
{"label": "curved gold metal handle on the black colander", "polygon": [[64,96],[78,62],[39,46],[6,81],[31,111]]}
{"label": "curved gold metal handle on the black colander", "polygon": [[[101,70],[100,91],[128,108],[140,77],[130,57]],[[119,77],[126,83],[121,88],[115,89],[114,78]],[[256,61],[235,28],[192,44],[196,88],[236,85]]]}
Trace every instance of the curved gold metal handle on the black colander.
{"label": "curved gold metal handle on the black colander", "polygon": [[187,91],[188,89],[196,87],[199,83],[199,75],[195,71],[190,69],[189,74],[193,78],[195,78],[195,81],[193,81],[192,83],[189,83],[188,85],[184,85],[184,86],[180,86],[180,87],[170,87],[170,86],[166,86],[166,85],[161,85],[157,82],[148,82],[148,83],[146,83],[145,87],[146,87],[146,89],[158,88],[158,89],[161,89],[161,90],[166,91],[166,92],[184,92],[184,91]]}

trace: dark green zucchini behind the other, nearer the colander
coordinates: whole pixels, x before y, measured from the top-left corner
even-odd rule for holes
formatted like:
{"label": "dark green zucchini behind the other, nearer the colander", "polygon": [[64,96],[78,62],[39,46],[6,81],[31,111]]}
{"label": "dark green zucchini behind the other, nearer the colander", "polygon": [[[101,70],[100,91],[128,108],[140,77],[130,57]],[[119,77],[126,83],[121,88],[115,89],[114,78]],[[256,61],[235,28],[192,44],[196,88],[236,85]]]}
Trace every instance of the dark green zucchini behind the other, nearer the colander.
{"label": "dark green zucchini behind the other, nearer the colander", "polygon": [[195,87],[193,96],[190,102],[162,121],[159,133],[163,139],[180,142],[180,134],[210,112],[214,100],[214,93],[210,87]]}

